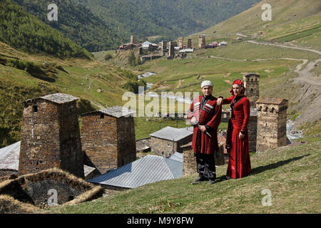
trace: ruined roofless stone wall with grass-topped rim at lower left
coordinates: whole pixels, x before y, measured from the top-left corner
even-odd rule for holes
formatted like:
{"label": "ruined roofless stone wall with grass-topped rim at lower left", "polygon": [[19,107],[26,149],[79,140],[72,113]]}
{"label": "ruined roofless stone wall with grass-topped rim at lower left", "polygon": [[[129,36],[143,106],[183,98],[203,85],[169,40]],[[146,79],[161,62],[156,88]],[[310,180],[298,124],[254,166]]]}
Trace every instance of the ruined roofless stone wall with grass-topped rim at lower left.
{"label": "ruined roofless stone wall with grass-topped rim at lower left", "polygon": [[[78,198],[87,201],[101,197],[103,188],[94,189],[95,185],[85,182],[61,170],[44,170],[31,175],[23,175],[7,181],[0,186],[0,195],[10,195],[20,202],[36,207],[48,207],[49,190],[56,190],[58,204],[65,204]],[[93,192],[89,192],[93,191]],[[88,192],[88,194],[86,194]]]}

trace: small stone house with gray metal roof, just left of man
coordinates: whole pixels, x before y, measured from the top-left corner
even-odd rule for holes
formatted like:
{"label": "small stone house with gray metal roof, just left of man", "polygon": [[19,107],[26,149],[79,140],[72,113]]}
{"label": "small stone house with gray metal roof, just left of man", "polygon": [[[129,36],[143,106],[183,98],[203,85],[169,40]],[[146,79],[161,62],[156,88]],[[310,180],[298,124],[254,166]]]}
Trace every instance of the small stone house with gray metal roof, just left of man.
{"label": "small stone house with gray metal roof, just left of man", "polygon": [[192,141],[192,128],[172,128],[165,127],[152,133],[151,135],[151,152],[154,155],[169,157],[174,152],[182,152],[181,145]]}

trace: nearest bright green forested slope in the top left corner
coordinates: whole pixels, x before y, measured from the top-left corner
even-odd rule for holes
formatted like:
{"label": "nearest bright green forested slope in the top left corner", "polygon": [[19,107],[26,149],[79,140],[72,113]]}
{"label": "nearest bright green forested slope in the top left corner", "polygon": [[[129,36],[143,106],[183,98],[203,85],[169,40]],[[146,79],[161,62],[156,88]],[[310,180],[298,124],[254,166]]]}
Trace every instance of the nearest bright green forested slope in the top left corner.
{"label": "nearest bright green forested slope in the top left corner", "polygon": [[90,58],[88,51],[9,0],[0,0],[0,41],[27,53]]}

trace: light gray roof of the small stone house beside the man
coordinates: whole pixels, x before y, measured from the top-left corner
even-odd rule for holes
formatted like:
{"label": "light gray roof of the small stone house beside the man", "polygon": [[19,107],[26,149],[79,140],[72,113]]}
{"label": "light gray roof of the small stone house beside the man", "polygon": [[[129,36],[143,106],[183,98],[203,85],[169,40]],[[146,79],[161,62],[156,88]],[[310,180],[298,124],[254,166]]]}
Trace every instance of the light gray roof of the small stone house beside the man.
{"label": "light gray roof of the small stone house beside the man", "polygon": [[156,131],[155,133],[151,133],[150,135],[151,137],[162,138],[164,140],[177,142],[178,140],[193,135],[193,127],[172,128],[167,126],[161,130]]}

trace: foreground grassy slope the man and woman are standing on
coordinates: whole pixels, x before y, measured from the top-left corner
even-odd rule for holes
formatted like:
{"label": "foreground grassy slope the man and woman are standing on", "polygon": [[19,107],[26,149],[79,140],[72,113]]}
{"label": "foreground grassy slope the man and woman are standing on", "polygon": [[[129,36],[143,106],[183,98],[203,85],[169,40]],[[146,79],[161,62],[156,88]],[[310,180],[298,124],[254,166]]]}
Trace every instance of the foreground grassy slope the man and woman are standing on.
{"label": "foreground grassy slope the man and woman are standing on", "polygon": [[[313,142],[252,155],[252,175],[237,180],[223,180],[227,165],[222,165],[214,185],[190,185],[197,175],[188,175],[51,207],[47,213],[320,213],[320,146]],[[265,189],[271,191],[272,205],[263,207]]]}

